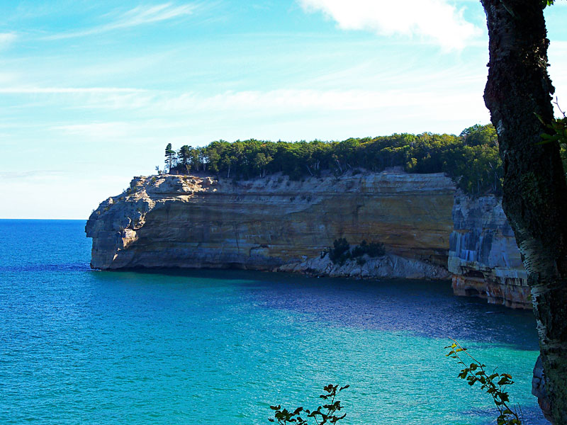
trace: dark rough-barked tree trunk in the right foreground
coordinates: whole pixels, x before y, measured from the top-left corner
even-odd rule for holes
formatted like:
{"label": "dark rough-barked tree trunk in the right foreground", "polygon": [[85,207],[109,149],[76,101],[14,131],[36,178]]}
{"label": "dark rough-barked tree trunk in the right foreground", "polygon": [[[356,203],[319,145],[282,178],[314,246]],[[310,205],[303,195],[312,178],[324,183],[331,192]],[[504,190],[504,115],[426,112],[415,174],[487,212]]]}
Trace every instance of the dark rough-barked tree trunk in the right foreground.
{"label": "dark rough-barked tree trunk in the right foreground", "polygon": [[541,0],[481,0],[490,62],[485,104],[504,164],[503,208],[532,290],[546,392],[567,424],[567,184],[559,148],[541,142],[553,119]]}

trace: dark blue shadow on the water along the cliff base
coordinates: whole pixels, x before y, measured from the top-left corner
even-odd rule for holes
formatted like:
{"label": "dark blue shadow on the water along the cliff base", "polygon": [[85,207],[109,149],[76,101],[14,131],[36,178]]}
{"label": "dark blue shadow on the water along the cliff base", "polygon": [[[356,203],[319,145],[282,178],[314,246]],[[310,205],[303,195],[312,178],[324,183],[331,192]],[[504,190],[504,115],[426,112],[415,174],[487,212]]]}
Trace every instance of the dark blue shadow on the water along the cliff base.
{"label": "dark blue shadow on the water along the cliff base", "polygon": [[[240,286],[259,308],[289,310],[328,327],[410,331],[433,338],[502,344],[539,350],[532,312],[456,297],[447,281],[306,278],[239,270],[137,270],[223,280]],[[106,273],[106,272],[104,272]],[[120,272],[123,273],[123,272]]]}

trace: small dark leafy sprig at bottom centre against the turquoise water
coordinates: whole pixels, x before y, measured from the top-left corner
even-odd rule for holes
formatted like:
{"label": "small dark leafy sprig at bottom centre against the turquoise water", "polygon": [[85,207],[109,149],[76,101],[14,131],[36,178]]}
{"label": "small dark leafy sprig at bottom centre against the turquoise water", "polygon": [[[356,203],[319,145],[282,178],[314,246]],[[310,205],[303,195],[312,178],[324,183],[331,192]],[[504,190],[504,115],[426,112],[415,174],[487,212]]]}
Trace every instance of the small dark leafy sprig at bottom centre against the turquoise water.
{"label": "small dark leafy sprig at bottom centre against the turquoise water", "polygon": [[[338,412],[342,409],[341,402],[336,399],[339,392],[346,390],[349,385],[344,385],[340,387],[338,385],[329,384],[323,387],[325,394],[319,397],[326,400],[327,404],[319,406],[315,410],[303,409],[303,407],[298,407],[297,409],[291,411],[288,409],[281,409],[281,405],[270,406],[270,409],[274,410],[274,417],[269,418],[270,422],[277,422],[279,425],[285,424],[309,424],[309,420],[313,419],[315,424],[322,425],[327,422],[330,424],[336,424],[341,419],[344,419],[347,414],[340,415]],[[303,415],[303,417],[302,417]]]}

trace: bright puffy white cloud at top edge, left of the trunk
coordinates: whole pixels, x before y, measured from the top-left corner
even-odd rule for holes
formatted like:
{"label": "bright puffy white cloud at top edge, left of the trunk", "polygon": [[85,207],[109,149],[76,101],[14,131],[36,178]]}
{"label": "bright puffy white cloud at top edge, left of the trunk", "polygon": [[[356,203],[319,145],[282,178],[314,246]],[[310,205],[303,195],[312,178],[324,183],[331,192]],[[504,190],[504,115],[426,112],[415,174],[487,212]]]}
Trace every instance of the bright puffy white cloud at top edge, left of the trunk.
{"label": "bright puffy white cloud at top edge, left of the trunk", "polygon": [[481,30],[446,0],[298,0],[303,10],[320,11],[344,30],[418,36],[445,49],[465,47]]}

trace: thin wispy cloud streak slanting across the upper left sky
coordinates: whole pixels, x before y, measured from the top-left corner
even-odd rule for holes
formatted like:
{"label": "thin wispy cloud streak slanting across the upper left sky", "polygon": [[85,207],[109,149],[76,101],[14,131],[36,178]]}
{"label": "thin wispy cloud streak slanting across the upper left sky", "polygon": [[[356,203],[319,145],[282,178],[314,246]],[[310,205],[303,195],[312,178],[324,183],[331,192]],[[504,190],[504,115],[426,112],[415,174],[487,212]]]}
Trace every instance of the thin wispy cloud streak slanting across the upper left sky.
{"label": "thin wispy cloud streak slanting across the upper left sky", "polygon": [[69,33],[48,35],[45,37],[45,40],[84,37],[86,35],[106,33],[120,28],[132,28],[148,23],[168,21],[174,18],[189,16],[193,14],[198,7],[199,4],[196,3],[184,4],[182,6],[175,6],[172,3],[157,4],[155,6],[137,6],[129,11],[118,14],[118,16],[115,16],[116,13],[107,14],[105,17],[111,18],[111,21],[101,26],[72,31]]}

